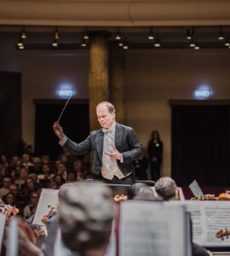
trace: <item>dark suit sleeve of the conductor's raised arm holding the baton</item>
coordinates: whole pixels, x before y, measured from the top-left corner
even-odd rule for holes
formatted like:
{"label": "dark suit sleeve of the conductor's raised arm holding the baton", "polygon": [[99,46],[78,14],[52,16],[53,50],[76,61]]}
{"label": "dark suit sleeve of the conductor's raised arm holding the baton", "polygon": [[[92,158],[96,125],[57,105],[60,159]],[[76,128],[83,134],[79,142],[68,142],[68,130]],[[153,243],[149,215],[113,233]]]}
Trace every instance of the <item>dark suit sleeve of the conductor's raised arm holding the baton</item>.
{"label": "dark suit sleeve of the conductor's raised arm holding the baton", "polygon": [[72,154],[87,154],[92,150],[90,137],[91,134],[82,143],[74,143],[67,137],[63,148],[67,148]]}

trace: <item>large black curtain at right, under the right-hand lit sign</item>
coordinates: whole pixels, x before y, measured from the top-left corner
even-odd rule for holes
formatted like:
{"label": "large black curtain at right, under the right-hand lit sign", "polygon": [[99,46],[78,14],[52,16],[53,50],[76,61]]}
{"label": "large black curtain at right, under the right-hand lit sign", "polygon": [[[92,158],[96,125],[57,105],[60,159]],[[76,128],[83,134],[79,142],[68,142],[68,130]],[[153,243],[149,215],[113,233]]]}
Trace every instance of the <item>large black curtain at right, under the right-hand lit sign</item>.
{"label": "large black curtain at right, under the right-hand lit sign", "polygon": [[230,106],[172,106],[172,177],[230,186]]}

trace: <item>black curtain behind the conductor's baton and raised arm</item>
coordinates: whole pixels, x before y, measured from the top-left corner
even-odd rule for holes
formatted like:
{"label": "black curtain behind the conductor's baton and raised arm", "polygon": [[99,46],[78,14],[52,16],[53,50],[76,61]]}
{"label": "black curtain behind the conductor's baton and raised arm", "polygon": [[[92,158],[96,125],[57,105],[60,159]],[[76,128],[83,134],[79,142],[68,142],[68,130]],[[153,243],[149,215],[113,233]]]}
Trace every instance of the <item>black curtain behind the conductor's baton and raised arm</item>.
{"label": "black curtain behind the conductor's baton and raised arm", "polygon": [[[53,124],[59,118],[66,101],[54,104],[36,104],[35,152],[49,154],[52,159],[63,152],[59,139],[53,131]],[[67,137],[79,143],[89,135],[89,104],[68,104],[61,119]]]}

